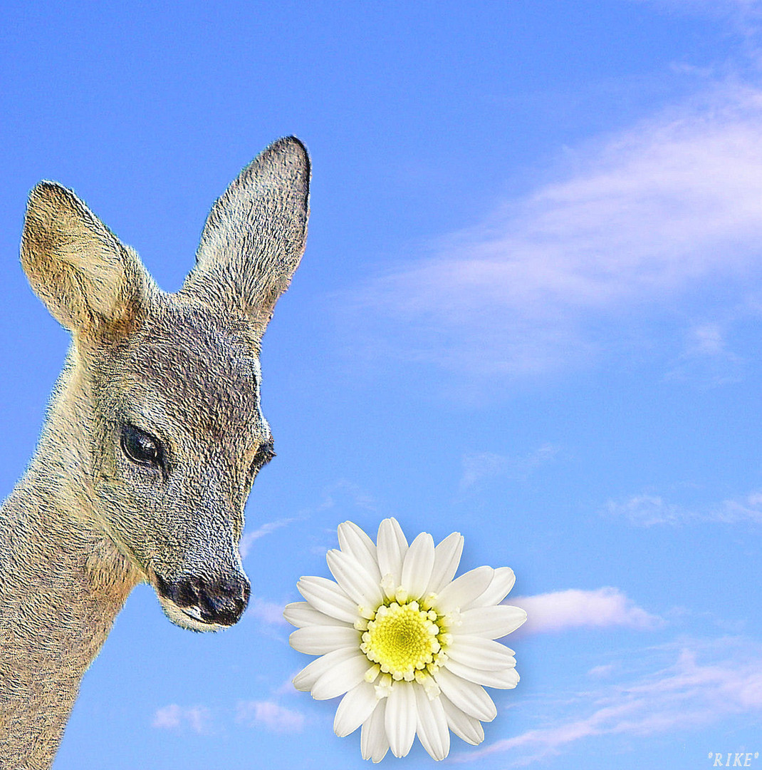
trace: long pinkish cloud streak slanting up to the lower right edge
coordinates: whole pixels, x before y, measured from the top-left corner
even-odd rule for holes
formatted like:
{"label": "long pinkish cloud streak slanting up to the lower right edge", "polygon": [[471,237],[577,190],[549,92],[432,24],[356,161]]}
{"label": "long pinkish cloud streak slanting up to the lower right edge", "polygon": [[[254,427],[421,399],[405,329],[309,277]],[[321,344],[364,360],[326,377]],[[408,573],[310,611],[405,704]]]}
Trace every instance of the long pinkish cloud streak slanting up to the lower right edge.
{"label": "long pinkish cloud streak slanting up to the lower right edge", "polygon": [[[561,754],[574,742],[604,735],[654,735],[716,725],[729,716],[762,712],[762,648],[738,638],[683,642],[666,668],[571,698],[553,723],[498,741],[460,758],[511,751],[512,765]],[[663,653],[665,650],[659,651]],[[666,650],[669,651],[669,650]],[[653,658],[642,651],[641,658]]]}

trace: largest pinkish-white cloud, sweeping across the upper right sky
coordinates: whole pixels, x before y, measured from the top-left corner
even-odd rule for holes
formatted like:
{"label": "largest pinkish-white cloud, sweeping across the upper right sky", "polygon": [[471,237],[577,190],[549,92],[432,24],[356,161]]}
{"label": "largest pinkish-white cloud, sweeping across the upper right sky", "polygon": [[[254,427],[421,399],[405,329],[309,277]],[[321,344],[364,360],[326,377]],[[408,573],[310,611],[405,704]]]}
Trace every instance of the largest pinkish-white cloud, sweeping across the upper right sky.
{"label": "largest pinkish-white cloud, sweeping across the upper right sky", "polygon": [[760,136],[762,91],[717,85],[380,278],[362,314],[398,323],[407,357],[521,375],[591,360],[710,283],[735,301],[762,268]]}

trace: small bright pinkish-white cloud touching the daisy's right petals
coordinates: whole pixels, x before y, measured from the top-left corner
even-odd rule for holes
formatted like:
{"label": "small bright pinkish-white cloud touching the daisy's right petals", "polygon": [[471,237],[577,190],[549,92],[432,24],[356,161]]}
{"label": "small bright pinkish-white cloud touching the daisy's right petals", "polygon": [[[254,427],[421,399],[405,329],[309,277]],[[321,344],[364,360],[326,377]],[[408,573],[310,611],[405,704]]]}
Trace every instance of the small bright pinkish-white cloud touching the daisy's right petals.
{"label": "small bright pinkish-white cloud touching the daisy's right petals", "polygon": [[638,607],[618,588],[594,591],[570,588],[551,594],[512,598],[509,604],[527,611],[527,622],[522,628],[527,634],[611,626],[646,630],[661,624],[661,618]]}

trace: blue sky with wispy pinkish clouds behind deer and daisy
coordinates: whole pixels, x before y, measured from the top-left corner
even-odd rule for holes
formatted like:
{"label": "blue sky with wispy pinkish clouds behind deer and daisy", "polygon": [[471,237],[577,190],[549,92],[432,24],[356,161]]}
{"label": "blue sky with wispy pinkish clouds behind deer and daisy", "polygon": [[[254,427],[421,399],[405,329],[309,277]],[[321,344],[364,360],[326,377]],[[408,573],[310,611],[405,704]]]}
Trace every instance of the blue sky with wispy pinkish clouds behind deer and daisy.
{"label": "blue sky with wispy pinkish clouds behind deer and daisy", "polygon": [[18,264],[28,190],[75,189],[176,290],[242,166],[291,133],[313,161],[250,609],[191,634],[136,589],[55,770],[365,766],[280,613],[341,521],[388,516],[461,531],[530,614],[444,764],[762,763],[760,32],[755,0],[4,3],[3,494],[68,346]]}

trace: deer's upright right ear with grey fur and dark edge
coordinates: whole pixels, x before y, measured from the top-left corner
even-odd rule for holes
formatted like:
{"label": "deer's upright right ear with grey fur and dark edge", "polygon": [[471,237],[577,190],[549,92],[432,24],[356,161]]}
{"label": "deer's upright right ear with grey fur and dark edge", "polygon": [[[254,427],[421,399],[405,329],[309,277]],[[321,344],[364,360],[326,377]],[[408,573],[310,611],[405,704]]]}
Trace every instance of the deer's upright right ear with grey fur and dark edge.
{"label": "deer's upright right ear with grey fur and dark edge", "polygon": [[211,208],[180,293],[238,310],[261,335],[307,240],[310,160],[295,137],[261,152]]}

